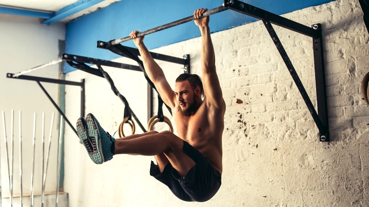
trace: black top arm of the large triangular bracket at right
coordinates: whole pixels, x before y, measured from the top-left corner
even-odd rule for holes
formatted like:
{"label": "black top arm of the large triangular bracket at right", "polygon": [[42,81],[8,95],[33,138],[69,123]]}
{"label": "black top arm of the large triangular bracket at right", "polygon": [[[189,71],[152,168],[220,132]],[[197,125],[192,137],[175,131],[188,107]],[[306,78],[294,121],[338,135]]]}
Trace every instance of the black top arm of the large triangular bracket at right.
{"label": "black top arm of the large triangular bracket at right", "polygon": [[265,11],[258,7],[252,6],[250,4],[244,3],[239,0],[224,0],[224,6],[230,8],[233,11],[242,13],[247,16],[252,16],[260,20],[266,20],[277,26],[298,32],[309,37],[318,38],[319,32],[316,30],[305,26],[303,24],[297,23],[285,17],[273,14],[271,12]]}

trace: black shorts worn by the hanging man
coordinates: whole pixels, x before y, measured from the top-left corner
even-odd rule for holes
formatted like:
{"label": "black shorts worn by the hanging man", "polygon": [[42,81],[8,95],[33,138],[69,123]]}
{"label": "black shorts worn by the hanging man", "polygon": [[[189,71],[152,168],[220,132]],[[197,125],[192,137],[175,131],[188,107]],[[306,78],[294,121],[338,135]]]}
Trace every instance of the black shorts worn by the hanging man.
{"label": "black shorts worn by the hanging man", "polygon": [[170,162],[160,173],[159,166],[151,161],[150,175],[167,185],[170,191],[183,201],[205,202],[210,200],[220,188],[220,174],[199,150],[185,141],[183,151],[196,163],[184,177],[178,175]]}

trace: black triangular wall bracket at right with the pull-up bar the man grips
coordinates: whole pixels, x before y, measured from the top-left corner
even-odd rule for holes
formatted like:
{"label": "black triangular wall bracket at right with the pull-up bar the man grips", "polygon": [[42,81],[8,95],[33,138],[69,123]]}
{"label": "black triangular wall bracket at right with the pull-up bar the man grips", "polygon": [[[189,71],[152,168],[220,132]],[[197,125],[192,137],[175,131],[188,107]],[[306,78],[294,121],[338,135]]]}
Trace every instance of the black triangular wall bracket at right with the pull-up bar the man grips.
{"label": "black triangular wall bracket at right with the pull-up bar the man grips", "polygon": [[[359,1],[367,1],[367,0],[359,0]],[[325,87],[325,73],[324,73],[324,61],[323,61],[323,47],[322,47],[322,36],[321,36],[321,25],[314,24],[312,27],[308,27],[302,25],[298,22],[292,21],[282,16],[278,16],[276,14],[270,13],[258,7],[252,6],[250,4],[244,3],[239,0],[224,0],[223,6],[219,6],[214,9],[210,9],[202,14],[203,16],[210,16],[213,14],[217,14],[219,12],[223,12],[226,10],[233,10],[239,12],[241,14],[252,16],[258,18],[264,22],[264,25],[272,38],[275,46],[278,49],[283,61],[285,62],[289,73],[292,76],[292,79],[295,81],[297,88],[299,89],[301,96],[313,117],[314,122],[316,123],[319,129],[319,140],[321,142],[329,142],[329,127],[328,127],[328,110],[327,110],[327,96],[326,96],[326,87]],[[366,7],[368,10],[368,7]],[[365,13],[364,13],[365,14]],[[369,10],[368,10],[369,14]],[[369,18],[369,16],[368,16]],[[138,32],[137,37],[148,35],[154,32],[158,32],[161,30],[165,30],[180,24],[184,24],[186,22],[195,20],[194,16],[188,16],[186,18],[170,22],[165,25],[161,25],[150,30],[144,32]],[[314,48],[314,65],[315,65],[315,77],[316,77],[316,90],[317,90],[317,106],[318,112],[315,110],[313,103],[311,102],[309,96],[306,93],[305,88],[296,73],[295,68],[293,67],[287,53],[285,52],[285,48],[281,41],[279,40],[276,32],[274,31],[271,24],[275,24],[277,26],[283,27],[285,29],[301,33],[303,35],[309,36],[313,38],[313,48]],[[109,42],[98,41],[98,48],[109,49],[110,51],[125,56],[122,50],[125,50],[125,46],[120,45],[120,43],[131,40],[132,38],[127,36],[117,40],[111,40]],[[134,52],[134,51],[133,51]],[[135,51],[136,54],[138,51]],[[151,53],[151,55],[153,55]],[[182,62],[181,62],[182,63]],[[184,64],[184,63],[182,63]],[[189,64],[187,65],[189,69]]]}

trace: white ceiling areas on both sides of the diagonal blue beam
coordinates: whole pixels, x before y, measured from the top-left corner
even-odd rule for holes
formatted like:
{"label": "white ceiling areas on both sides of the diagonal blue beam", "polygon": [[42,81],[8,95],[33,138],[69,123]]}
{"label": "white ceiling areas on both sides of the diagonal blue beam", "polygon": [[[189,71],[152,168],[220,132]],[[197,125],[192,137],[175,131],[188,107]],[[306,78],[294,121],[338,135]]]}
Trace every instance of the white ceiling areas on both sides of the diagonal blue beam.
{"label": "white ceiling areas on both sides of the diagonal blue beam", "polygon": [[[56,12],[66,7],[69,4],[75,3],[78,0],[0,0],[0,6],[16,7],[20,9],[30,9],[43,12]],[[61,22],[68,22],[80,16],[95,12],[98,9],[109,6],[120,0],[104,0],[94,6],[91,6],[81,12],[68,16],[60,20]]]}

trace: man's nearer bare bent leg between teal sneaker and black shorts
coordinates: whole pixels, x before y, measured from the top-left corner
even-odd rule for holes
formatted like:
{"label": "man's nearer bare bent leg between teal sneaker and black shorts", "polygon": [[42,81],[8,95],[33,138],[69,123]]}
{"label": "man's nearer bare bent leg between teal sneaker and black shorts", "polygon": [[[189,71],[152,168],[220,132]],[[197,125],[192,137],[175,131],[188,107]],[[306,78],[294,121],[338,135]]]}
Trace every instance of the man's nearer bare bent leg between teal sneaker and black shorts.
{"label": "man's nearer bare bent leg between teal sneaker and black shorts", "polygon": [[131,140],[118,139],[114,154],[155,156],[164,153],[177,173],[185,176],[195,162],[183,152],[183,144],[183,140],[172,132],[163,131]]}

